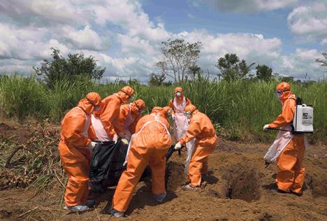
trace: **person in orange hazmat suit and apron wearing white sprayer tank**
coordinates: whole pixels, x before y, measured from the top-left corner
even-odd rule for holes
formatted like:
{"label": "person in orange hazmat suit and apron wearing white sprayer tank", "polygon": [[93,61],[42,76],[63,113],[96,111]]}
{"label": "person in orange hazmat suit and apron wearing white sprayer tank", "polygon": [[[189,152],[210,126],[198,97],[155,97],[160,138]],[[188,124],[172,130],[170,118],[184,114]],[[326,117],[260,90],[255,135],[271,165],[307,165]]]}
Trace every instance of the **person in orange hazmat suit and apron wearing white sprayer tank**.
{"label": "person in orange hazmat suit and apron wearing white sprayer tank", "polygon": [[282,113],[263,129],[279,128],[274,144],[270,149],[275,148],[275,154],[271,157],[268,150],[264,159],[268,162],[276,162],[278,173],[276,177],[277,192],[293,193],[302,195],[302,187],[305,180],[305,169],[302,166],[305,155],[306,141],[304,134],[292,134],[291,123],[296,108],[296,96],[291,92],[289,83],[279,83],[276,87],[276,94],[282,103]]}

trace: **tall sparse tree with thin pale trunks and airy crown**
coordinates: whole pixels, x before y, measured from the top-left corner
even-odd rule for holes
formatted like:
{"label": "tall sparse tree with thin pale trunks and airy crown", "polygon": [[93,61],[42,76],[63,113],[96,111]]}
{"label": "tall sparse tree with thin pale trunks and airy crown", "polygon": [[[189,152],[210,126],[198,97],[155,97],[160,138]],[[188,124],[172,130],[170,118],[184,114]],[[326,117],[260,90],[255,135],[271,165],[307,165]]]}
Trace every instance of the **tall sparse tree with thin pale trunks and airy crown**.
{"label": "tall sparse tree with thin pale trunks and airy crown", "polygon": [[157,66],[163,74],[173,78],[175,83],[184,81],[186,71],[198,61],[201,43],[189,43],[183,39],[168,39],[161,43],[163,59],[157,62]]}

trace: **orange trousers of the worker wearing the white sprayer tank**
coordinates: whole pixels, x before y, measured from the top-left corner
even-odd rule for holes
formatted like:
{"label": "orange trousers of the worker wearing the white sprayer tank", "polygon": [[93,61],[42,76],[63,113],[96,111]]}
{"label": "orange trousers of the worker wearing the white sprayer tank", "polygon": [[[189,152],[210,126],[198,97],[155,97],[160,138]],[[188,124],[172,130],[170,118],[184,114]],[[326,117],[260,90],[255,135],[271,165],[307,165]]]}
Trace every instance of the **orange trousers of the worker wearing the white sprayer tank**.
{"label": "orange trousers of the worker wearing the white sprayer tank", "polygon": [[305,155],[303,135],[294,135],[277,158],[278,173],[276,184],[279,190],[301,193],[305,180],[305,169],[302,167]]}

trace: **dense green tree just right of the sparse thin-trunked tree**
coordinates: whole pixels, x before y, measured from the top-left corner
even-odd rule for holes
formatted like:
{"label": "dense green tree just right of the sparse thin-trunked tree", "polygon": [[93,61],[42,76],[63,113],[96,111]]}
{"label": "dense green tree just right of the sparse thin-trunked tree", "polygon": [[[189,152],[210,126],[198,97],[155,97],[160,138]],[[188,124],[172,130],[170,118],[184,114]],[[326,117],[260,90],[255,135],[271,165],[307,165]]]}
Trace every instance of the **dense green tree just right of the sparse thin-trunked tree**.
{"label": "dense green tree just right of the sparse thin-trunked tree", "polygon": [[232,81],[245,78],[254,64],[247,66],[244,59],[240,61],[237,55],[226,54],[218,59],[216,66],[224,80]]}

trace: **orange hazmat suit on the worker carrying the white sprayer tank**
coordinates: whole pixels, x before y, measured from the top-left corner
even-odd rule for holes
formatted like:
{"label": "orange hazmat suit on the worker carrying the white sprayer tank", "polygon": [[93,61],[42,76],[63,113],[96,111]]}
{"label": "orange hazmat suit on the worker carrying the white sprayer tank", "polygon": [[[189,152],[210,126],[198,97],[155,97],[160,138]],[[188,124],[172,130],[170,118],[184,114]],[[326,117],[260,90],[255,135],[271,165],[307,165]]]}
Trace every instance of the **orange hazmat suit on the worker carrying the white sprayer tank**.
{"label": "orange hazmat suit on the worker carrying the white sprayer tank", "polygon": [[[282,114],[278,115],[274,122],[268,125],[269,128],[283,127],[291,124],[296,108],[296,97],[291,93],[291,86],[288,83],[280,83],[276,87],[282,101]],[[284,192],[302,193],[305,179],[305,169],[302,167],[305,155],[304,134],[294,134],[291,141],[277,157],[278,173],[276,184],[279,190]]]}

